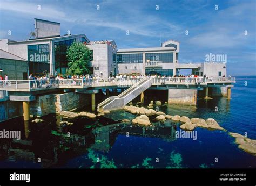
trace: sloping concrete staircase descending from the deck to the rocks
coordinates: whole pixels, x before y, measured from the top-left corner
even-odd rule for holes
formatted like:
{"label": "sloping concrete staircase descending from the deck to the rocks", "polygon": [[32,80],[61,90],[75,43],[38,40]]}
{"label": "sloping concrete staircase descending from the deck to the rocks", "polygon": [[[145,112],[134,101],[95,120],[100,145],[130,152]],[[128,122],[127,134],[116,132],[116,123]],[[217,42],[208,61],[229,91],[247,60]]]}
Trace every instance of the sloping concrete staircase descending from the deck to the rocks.
{"label": "sloping concrete staircase descending from the deck to the rocks", "polygon": [[132,85],[129,89],[125,90],[118,96],[112,96],[105,99],[102,103],[98,104],[97,111],[103,112],[105,110],[117,110],[122,109],[124,106],[136,98],[143,91],[150,88],[152,84],[151,78],[143,78],[138,83]]}

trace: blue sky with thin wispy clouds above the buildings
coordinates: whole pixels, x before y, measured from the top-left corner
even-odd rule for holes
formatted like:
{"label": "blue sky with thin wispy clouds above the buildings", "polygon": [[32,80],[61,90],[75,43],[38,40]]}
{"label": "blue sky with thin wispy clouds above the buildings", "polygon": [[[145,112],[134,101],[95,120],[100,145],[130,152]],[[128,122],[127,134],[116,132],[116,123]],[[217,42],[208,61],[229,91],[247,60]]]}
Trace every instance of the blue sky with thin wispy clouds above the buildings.
{"label": "blue sky with thin wispy clouds above the buildings", "polygon": [[33,18],[40,18],[60,22],[62,35],[70,30],[91,41],[114,39],[118,48],[158,47],[160,41],[173,39],[180,42],[180,62],[226,54],[228,74],[256,75],[255,12],[256,1],[247,0],[0,0],[0,38],[25,40],[33,31]]}

